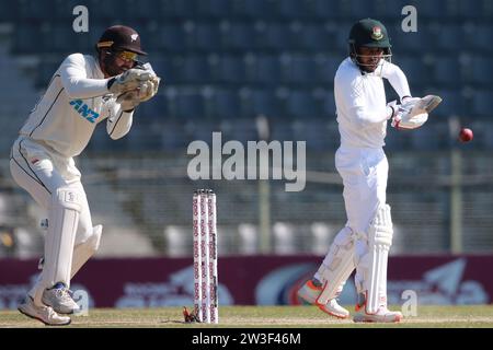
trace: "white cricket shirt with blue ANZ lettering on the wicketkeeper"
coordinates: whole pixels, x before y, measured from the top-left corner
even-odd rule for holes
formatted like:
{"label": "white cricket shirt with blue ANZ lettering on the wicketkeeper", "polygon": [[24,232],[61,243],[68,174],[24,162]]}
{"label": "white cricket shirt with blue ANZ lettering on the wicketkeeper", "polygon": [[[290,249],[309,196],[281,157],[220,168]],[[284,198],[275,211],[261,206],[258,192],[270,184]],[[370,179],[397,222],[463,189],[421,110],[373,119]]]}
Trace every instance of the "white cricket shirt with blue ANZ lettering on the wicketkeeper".
{"label": "white cricket shirt with blue ANZ lettering on the wicketkeeper", "polygon": [[133,112],[121,110],[116,97],[106,88],[107,80],[94,57],[68,56],[54,73],[20,135],[66,158],[80,154],[95,126],[106,118],[106,130],[112,139],[125,136],[131,127]]}

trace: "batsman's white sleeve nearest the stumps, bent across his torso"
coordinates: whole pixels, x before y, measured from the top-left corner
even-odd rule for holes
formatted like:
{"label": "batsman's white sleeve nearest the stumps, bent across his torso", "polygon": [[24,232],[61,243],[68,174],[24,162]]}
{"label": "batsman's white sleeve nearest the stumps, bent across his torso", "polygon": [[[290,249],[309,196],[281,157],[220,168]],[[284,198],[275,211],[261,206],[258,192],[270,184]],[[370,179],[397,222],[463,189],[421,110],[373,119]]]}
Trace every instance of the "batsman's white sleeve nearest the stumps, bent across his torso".
{"label": "batsman's white sleeve nearest the stumps, bent across his torso", "polygon": [[340,103],[345,106],[349,117],[358,128],[374,127],[392,116],[393,109],[389,106],[387,106],[386,113],[382,115],[368,110],[359,79],[336,79],[335,84],[339,85],[337,88],[341,92],[337,94],[337,98],[341,98]]}

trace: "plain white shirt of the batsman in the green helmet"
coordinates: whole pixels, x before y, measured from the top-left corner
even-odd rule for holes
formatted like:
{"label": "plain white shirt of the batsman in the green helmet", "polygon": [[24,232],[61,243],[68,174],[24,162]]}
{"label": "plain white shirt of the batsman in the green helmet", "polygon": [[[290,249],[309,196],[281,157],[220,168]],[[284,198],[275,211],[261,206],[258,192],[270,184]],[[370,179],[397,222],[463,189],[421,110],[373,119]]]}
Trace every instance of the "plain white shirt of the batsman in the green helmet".
{"label": "plain white shirt of the batsman in the green helmet", "polygon": [[411,96],[405,74],[386,60],[381,60],[372,73],[362,73],[351,58],[339,66],[334,78],[334,97],[342,147],[385,145],[387,120],[392,112],[387,107],[382,78],[389,80],[400,98]]}

